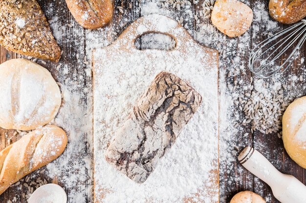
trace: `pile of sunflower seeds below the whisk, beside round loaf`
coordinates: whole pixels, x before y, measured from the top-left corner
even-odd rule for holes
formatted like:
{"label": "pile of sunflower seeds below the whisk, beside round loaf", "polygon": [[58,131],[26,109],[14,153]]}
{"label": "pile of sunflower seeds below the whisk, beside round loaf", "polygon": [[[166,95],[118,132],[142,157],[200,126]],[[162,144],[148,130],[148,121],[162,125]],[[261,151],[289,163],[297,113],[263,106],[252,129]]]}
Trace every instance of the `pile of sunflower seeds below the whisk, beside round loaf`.
{"label": "pile of sunflower seeds below the whisk, beside round loaf", "polygon": [[[262,79],[254,81],[254,91],[238,96],[234,103],[244,112],[242,125],[251,124],[251,132],[259,130],[264,134],[279,132],[282,129],[282,116],[289,98],[284,96],[285,85],[269,84]],[[281,133],[278,134],[281,137]]]}

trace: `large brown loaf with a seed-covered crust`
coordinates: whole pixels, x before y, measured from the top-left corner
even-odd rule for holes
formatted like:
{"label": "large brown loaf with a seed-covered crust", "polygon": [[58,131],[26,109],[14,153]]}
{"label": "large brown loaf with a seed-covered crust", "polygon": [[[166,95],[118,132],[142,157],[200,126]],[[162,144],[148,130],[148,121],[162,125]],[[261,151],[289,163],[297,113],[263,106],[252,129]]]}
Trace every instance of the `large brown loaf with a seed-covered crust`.
{"label": "large brown loaf with a seed-covered crust", "polygon": [[58,61],[60,47],[36,0],[0,0],[0,44],[13,52]]}

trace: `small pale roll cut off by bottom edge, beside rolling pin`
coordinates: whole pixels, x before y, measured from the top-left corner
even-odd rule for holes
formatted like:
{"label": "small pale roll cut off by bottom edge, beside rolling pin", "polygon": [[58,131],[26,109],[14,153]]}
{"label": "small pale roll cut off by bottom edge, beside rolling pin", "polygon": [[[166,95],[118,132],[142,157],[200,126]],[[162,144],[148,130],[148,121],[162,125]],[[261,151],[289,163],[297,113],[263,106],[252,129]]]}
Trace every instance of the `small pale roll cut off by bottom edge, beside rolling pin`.
{"label": "small pale roll cut off by bottom edge, beside rolling pin", "polygon": [[237,193],[230,203],[265,203],[262,197],[251,191]]}

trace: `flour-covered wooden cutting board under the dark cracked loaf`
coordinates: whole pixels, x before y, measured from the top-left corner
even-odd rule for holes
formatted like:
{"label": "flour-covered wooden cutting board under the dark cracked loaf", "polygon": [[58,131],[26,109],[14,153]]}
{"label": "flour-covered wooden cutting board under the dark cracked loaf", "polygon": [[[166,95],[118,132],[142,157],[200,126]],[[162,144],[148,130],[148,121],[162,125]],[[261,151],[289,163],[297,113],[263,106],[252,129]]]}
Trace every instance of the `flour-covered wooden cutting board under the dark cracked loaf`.
{"label": "flour-covered wooden cutting board under the dark cracked loaf", "polygon": [[[171,36],[176,46],[138,50],[135,39],[147,33]],[[162,71],[188,82],[202,102],[151,175],[138,184],[111,166],[105,153],[137,99]],[[219,203],[218,52],[199,45],[174,19],[149,15],[110,46],[94,51],[93,73],[95,203]]]}

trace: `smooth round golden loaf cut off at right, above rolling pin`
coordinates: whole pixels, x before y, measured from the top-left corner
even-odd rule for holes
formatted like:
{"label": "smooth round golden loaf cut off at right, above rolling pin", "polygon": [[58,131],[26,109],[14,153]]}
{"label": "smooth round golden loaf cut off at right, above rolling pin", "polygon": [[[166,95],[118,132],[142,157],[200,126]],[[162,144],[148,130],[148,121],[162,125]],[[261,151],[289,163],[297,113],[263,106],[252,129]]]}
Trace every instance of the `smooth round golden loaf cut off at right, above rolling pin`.
{"label": "smooth round golden loaf cut off at right, above rolling pin", "polygon": [[306,168],[306,96],[292,102],[284,112],[283,141],[291,159]]}

